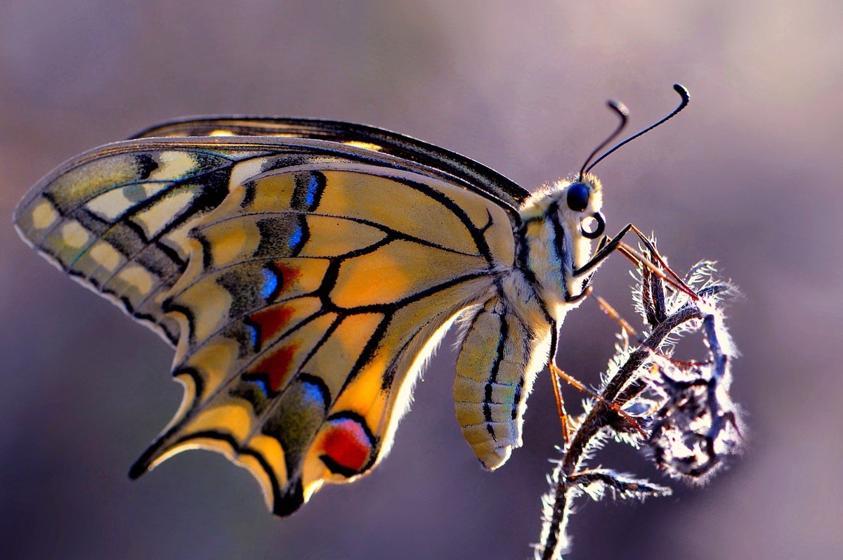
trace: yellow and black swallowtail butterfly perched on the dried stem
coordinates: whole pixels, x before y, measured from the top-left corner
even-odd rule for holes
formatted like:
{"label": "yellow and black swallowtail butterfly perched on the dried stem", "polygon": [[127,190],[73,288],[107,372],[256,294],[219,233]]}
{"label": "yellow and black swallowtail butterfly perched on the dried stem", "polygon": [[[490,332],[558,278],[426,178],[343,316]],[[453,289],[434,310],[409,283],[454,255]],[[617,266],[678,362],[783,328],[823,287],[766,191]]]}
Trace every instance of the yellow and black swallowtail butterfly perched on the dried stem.
{"label": "yellow and black swallowtail butterfly perched on the dried stem", "polygon": [[62,164],[14,223],[175,347],[184,399],[130,477],[215,450],[287,515],[387,455],[454,320],[457,420],[486,468],[507,460],[562,320],[626,233],[592,252],[602,196],[585,165],[531,193],[375,127],[200,117]]}

